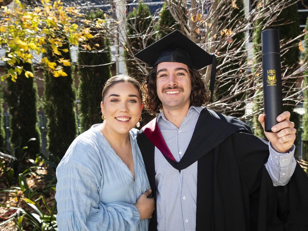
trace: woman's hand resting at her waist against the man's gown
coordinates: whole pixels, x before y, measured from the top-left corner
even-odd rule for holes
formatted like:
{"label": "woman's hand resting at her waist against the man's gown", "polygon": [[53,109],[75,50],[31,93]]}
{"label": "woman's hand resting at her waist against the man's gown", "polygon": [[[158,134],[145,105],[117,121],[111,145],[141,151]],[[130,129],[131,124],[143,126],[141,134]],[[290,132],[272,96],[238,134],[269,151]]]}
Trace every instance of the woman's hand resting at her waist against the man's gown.
{"label": "woman's hand resting at her waist against the man's gown", "polygon": [[150,196],[151,193],[152,193],[151,189],[143,193],[139,197],[135,205],[140,213],[140,220],[152,217],[152,213],[154,212],[155,207],[154,207],[154,198],[148,198],[148,196]]}

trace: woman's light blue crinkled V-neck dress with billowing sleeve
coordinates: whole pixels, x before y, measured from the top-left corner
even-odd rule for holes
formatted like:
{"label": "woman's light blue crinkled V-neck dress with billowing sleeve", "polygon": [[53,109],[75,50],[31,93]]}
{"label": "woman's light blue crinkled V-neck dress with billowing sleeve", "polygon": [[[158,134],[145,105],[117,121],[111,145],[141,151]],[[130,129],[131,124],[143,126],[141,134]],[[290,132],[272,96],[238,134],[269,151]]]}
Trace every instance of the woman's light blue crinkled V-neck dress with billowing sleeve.
{"label": "woman's light blue crinkled V-neck dress with billowing sleeve", "polygon": [[137,129],[129,132],[135,181],[93,125],[79,135],[58,165],[56,201],[58,231],[148,230],[149,219],[140,220],[134,206],[150,189],[137,145]]}

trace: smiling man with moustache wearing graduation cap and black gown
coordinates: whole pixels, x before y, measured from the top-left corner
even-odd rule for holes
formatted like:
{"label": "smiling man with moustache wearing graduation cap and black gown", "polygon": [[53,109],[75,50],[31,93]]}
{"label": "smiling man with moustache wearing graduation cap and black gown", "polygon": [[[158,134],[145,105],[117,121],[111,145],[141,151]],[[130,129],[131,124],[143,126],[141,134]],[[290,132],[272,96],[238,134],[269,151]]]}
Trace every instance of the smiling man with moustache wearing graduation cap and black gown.
{"label": "smiling man with moustache wearing graduation cap and black gown", "polygon": [[[212,99],[216,58],[177,30],[135,56],[153,67],[144,107],[162,109],[137,138],[156,202],[149,230],[308,230],[290,112],[265,132],[268,143],[201,107]],[[211,63],[210,94],[197,70]]]}

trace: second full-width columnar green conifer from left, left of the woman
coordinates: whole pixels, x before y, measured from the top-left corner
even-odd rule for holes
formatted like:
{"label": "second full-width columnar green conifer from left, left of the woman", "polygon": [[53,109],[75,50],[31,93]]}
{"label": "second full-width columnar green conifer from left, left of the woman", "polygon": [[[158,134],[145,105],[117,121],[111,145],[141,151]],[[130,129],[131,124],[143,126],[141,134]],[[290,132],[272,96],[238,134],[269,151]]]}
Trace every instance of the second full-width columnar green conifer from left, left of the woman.
{"label": "second full-width columnar green conifer from left, left of the woman", "polygon": [[[70,59],[69,44],[65,43],[64,59]],[[52,50],[47,47],[48,59],[55,61]],[[67,76],[54,77],[49,71],[44,73],[44,109],[48,118],[47,142],[49,151],[60,159],[77,135],[75,112],[75,86],[70,66],[64,66]]]}

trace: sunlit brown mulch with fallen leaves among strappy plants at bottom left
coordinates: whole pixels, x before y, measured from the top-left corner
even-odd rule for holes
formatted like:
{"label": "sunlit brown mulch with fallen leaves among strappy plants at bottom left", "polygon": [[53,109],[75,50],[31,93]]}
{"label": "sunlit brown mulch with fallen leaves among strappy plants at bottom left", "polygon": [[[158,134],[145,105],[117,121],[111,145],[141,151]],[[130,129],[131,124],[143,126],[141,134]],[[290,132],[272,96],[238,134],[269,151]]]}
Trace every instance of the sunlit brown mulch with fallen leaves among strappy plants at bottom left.
{"label": "sunlit brown mulch with fallen leaves among strappy plants at bottom left", "polygon": [[[37,174],[36,174],[37,173]],[[42,189],[47,186],[50,182],[50,180],[46,180],[44,179],[44,175],[47,174],[47,169],[42,167],[42,169],[36,170],[32,175],[30,175],[29,177],[26,178],[26,182],[28,184],[28,187],[31,189],[37,189],[37,194],[34,195],[31,200],[35,200],[37,199],[40,195],[43,195],[42,193],[40,193],[42,191]],[[55,175],[55,174],[54,174]],[[0,176],[1,179],[1,176]],[[19,186],[18,183],[16,185],[13,186]],[[0,190],[2,189],[8,189],[8,187],[3,184],[2,182],[0,182]],[[22,200],[22,198],[25,198],[25,195],[23,194],[23,192],[21,190],[16,190],[17,193],[3,193],[0,192],[0,204],[1,205],[6,205],[8,207],[17,207],[17,208],[22,208],[25,209],[28,212],[34,212],[34,210],[27,205],[27,203],[25,201]],[[55,191],[53,189],[49,189],[47,195],[43,195],[46,204],[48,205],[49,209],[52,208],[53,204],[54,204],[54,199],[55,199]],[[48,211],[45,208],[45,206],[43,205],[42,200],[39,200],[37,203],[39,203],[39,205],[41,206],[44,214],[47,214]],[[5,207],[0,207],[0,216],[3,215],[7,215],[5,214],[6,212],[10,212],[12,210],[10,210],[9,208],[5,208]],[[56,212],[55,212],[56,214]],[[17,215],[15,216],[17,217]],[[5,220],[0,218],[0,224],[3,223]],[[26,225],[26,219],[23,219],[22,221],[22,227],[23,230],[25,231],[32,231],[33,227],[30,225]],[[10,220],[9,222],[3,224],[0,226],[0,230],[1,231],[17,231],[17,227],[16,227],[16,223],[15,220]]]}

